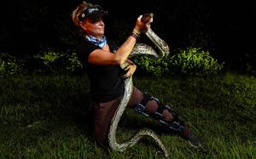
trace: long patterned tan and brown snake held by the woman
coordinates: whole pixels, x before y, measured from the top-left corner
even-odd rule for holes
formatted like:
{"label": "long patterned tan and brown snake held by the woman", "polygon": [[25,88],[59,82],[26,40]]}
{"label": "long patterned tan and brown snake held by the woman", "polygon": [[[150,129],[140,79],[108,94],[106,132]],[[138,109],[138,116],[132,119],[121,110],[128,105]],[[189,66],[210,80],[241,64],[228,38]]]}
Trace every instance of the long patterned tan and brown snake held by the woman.
{"label": "long patterned tan and brown snake held by the woman", "polygon": [[[146,23],[150,18],[153,17],[154,14],[144,14],[142,21]],[[151,48],[147,44],[144,43],[136,43],[134,48],[131,51],[130,57],[131,56],[136,56],[136,55],[149,55],[155,59],[163,58],[166,54],[169,54],[169,47],[166,44],[165,41],[163,41],[160,37],[158,37],[154,31],[152,31],[150,28],[148,29],[147,32],[145,32],[146,36],[155,44],[157,48],[159,48],[159,53],[157,54],[154,51],[154,48]],[[121,65],[122,68],[124,68],[127,65]],[[152,137],[157,145],[160,146],[160,149],[164,152],[165,156],[169,156],[168,150],[166,150],[165,145],[161,141],[161,139],[158,137],[156,133],[154,133],[153,130],[149,128],[141,128],[135,133],[130,139],[125,141],[124,143],[118,143],[116,140],[116,130],[118,128],[118,123],[119,120],[122,116],[122,114],[125,111],[126,105],[128,104],[131,94],[133,91],[133,83],[132,83],[132,77],[128,77],[125,79],[125,92],[123,95],[123,98],[121,99],[119,106],[117,110],[115,111],[112,121],[110,123],[110,128],[109,128],[109,133],[108,133],[108,144],[110,148],[113,150],[119,150],[123,151],[128,147],[131,147],[137,142],[143,138],[143,136],[150,136]]]}

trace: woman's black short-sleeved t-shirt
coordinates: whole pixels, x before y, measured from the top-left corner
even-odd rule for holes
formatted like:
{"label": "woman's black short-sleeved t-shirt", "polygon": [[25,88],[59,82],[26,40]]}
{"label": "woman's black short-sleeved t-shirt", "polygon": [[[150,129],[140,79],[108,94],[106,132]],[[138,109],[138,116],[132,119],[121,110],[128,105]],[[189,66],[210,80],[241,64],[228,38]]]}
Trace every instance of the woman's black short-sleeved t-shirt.
{"label": "woman's black short-sleeved t-shirt", "polygon": [[[108,40],[110,52],[118,46]],[[119,65],[94,65],[88,62],[88,57],[95,49],[102,49],[87,40],[80,43],[77,54],[84,70],[90,79],[90,94],[95,102],[107,102],[116,99],[124,93],[123,71]]]}

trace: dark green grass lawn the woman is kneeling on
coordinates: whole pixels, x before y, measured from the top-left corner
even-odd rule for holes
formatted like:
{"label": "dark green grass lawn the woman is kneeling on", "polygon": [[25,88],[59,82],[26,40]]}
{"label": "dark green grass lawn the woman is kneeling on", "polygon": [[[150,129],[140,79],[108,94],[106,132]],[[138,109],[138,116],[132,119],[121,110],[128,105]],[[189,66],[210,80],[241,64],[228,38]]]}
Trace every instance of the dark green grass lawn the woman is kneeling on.
{"label": "dark green grass lawn the woman is kneeling on", "polygon": [[[134,84],[173,105],[203,146],[192,148],[158,122],[128,109],[119,123],[119,141],[148,127],[163,139],[170,158],[255,158],[254,77],[134,77]],[[148,159],[160,150],[148,137],[124,152],[103,150],[92,135],[91,112],[87,77],[0,79],[0,158]]]}

